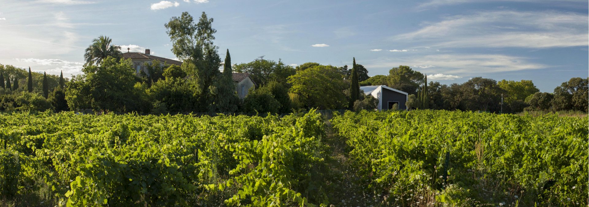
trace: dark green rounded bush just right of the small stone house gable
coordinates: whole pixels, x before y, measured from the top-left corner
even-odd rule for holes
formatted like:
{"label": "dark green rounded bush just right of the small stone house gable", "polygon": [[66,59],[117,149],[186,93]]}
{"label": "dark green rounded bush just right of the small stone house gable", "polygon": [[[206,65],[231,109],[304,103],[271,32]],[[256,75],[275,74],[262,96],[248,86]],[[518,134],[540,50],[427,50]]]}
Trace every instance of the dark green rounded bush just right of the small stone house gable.
{"label": "dark green rounded bush just right of the small stone house gable", "polygon": [[282,107],[274,98],[272,89],[263,86],[258,89],[250,88],[246,98],[243,99],[243,112],[246,113],[278,113]]}

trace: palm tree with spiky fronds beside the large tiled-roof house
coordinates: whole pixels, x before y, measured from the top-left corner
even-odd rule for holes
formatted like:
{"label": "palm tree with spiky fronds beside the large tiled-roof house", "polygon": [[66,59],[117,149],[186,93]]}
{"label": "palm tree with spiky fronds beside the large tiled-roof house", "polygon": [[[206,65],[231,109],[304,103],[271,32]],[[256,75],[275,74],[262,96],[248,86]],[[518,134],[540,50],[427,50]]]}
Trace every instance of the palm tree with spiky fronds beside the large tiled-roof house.
{"label": "palm tree with spiky fronds beside the large tiled-roof house", "polygon": [[107,56],[119,59],[121,57],[121,46],[112,45],[112,39],[108,36],[99,36],[92,41],[92,45],[86,48],[84,53],[85,65],[100,65]]}

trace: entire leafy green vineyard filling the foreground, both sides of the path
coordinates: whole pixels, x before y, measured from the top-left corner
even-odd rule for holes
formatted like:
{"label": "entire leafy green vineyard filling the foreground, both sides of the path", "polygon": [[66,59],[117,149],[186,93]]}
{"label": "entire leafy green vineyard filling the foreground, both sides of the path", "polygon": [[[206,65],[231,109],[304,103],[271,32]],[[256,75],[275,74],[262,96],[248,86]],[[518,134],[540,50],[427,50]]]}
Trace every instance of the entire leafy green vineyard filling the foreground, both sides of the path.
{"label": "entire leafy green vineyard filling the foreground, both sides of the path", "polygon": [[0,114],[4,206],[587,206],[588,119]]}

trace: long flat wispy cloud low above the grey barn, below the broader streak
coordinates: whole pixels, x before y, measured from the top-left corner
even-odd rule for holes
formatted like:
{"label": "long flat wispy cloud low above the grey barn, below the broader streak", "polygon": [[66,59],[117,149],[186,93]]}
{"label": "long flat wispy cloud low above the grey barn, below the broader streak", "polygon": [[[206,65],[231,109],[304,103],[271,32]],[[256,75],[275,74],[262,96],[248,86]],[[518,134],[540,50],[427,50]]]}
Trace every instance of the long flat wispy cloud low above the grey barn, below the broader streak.
{"label": "long flat wispy cloud low above the grey barn, below the broader streak", "polygon": [[423,68],[420,71],[462,76],[548,67],[547,65],[529,62],[528,59],[501,54],[435,54],[403,58],[378,58],[367,61],[371,62],[371,64],[364,66],[366,68],[393,68],[399,65],[435,65],[435,68]]}

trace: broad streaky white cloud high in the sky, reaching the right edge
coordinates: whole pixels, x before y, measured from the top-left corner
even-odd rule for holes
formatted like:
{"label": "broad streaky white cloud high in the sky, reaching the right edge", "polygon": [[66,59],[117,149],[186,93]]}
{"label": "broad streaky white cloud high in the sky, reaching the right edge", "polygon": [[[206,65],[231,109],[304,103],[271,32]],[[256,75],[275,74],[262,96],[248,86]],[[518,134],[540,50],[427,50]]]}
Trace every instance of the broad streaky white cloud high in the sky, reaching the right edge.
{"label": "broad streaky white cloud high in the sky, reaching the right edge", "polygon": [[483,11],[449,16],[391,39],[455,48],[587,46],[588,17],[573,12]]}

